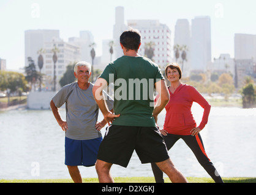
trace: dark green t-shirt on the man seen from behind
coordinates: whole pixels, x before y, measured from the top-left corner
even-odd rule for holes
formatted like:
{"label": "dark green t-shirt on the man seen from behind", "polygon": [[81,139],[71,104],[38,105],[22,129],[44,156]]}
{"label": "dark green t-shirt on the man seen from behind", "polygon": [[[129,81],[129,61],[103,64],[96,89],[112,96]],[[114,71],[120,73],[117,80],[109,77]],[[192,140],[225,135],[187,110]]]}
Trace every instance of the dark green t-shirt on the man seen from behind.
{"label": "dark green t-shirt on the man seen from behind", "polygon": [[100,78],[114,83],[114,111],[119,126],[154,127],[154,83],[164,79],[156,63],[124,55],[107,65]]}

